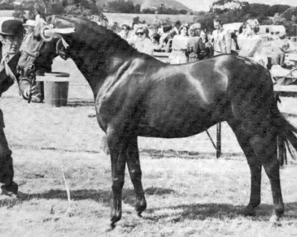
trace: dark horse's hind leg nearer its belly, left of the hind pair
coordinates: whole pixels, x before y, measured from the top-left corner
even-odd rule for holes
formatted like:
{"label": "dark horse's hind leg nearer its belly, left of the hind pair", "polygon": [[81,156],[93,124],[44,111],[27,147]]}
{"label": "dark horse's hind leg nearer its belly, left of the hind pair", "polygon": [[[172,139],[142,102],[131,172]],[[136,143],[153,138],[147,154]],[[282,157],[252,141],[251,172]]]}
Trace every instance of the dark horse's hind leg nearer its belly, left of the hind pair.
{"label": "dark horse's hind leg nearer its belly, left of the hind pair", "polygon": [[229,125],[233,129],[239,145],[243,149],[247,158],[247,163],[250,169],[250,198],[247,207],[244,210],[244,214],[247,216],[254,215],[254,208],[261,202],[261,169],[262,165],[254,153],[252,146],[248,141],[248,136],[244,131],[240,129],[239,124],[228,121]]}

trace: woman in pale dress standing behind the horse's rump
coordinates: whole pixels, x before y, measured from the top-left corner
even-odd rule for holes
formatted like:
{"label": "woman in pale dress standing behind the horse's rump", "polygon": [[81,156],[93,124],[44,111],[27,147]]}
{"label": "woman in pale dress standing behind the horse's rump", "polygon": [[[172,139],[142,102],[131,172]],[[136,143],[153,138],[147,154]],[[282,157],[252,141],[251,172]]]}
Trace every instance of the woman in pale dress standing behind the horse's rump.
{"label": "woman in pale dress standing behind the horse's rump", "polygon": [[247,20],[245,29],[246,38],[242,41],[242,48],[239,55],[250,58],[261,64],[263,67],[266,67],[267,59],[261,55],[262,39],[257,35],[259,29],[260,27],[257,19]]}

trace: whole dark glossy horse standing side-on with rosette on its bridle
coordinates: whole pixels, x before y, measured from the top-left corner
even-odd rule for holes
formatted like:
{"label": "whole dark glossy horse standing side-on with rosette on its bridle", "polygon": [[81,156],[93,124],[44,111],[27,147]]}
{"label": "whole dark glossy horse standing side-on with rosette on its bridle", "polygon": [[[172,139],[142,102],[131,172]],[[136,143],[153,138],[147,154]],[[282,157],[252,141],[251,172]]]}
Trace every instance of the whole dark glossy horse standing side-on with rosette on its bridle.
{"label": "whole dark glossy horse standing side-on with rosette on its bridle", "polygon": [[260,203],[263,166],[274,203],[271,221],[279,220],[284,213],[279,164],[288,145],[296,150],[293,132],[297,129],[278,110],[266,69],[234,55],[167,65],[138,52],[94,22],[52,16],[49,23],[51,27],[41,31],[37,27],[32,39],[23,45],[18,69],[26,76],[34,68],[32,64],[51,64],[60,54],[72,58],[88,80],[94,92],[97,119],[110,150],[112,226],[122,215],[126,163],[138,214],[147,207],[138,136],[187,137],[220,121],[227,121],[233,129],[250,168],[250,200],[244,213],[254,214]]}

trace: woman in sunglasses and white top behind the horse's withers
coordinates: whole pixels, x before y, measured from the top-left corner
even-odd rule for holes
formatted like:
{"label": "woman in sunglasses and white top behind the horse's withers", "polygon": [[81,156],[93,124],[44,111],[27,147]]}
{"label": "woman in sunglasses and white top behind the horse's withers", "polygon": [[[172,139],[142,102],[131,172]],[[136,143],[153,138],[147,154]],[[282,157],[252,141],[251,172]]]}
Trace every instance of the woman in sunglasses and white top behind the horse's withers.
{"label": "woman in sunglasses and white top behind the horse's withers", "polygon": [[134,44],[134,47],[142,53],[148,55],[153,54],[153,44],[148,38],[148,27],[146,25],[138,25],[135,31],[136,40],[133,40],[131,44]]}

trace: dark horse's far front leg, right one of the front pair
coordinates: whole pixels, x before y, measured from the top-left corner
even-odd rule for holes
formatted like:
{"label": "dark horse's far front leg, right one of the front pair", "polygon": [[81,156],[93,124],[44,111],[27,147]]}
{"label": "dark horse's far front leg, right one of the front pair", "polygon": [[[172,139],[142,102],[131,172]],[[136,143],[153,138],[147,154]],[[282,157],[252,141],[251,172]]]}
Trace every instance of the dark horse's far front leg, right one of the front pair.
{"label": "dark horse's far front leg, right one of the front pair", "polygon": [[130,137],[129,140],[127,148],[127,166],[136,195],[135,208],[138,216],[141,216],[141,213],[147,208],[147,201],[141,182],[142,172],[140,168],[137,136]]}

